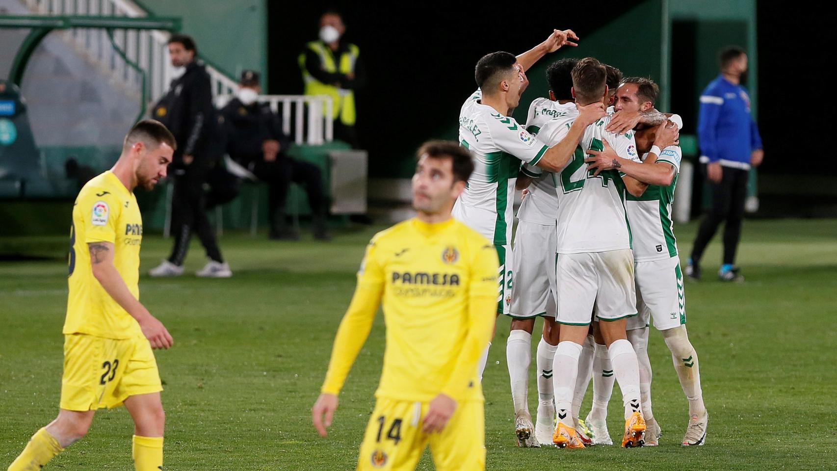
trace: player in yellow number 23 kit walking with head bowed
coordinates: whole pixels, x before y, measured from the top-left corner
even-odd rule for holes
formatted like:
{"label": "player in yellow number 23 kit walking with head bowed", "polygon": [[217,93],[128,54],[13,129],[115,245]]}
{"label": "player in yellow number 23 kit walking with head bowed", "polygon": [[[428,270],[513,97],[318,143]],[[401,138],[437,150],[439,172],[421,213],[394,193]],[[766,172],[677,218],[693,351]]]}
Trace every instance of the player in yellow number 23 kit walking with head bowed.
{"label": "player in yellow number 23 kit walking with head bowed", "polygon": [[96,409],[122,404],[134,419],[136,471],[162,469],[165,415],[151,348],[168,348],[173,340],[139,301],[142,219],[133,191],[166,177],[175,146],[164,125],[140,121],[113,168],[76,197],[59,414],[33,435],[8,471],[43,468],[85,436]]}

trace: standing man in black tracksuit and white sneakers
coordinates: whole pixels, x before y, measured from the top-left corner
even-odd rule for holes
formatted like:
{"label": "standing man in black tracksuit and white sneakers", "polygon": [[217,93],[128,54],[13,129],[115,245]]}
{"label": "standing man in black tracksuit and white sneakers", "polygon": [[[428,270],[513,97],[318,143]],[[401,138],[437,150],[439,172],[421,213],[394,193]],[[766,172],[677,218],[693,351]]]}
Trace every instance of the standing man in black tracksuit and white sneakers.
{"label": "standing man in black tracksuit and white sneakers", "polygon": [[167,260],[151,276],[177,276],[183,273],[183,260],[193,231],[206,249],[208,263],[198,276],[227,278],[232,275],[224,263],[215,234],[206,215],[203,183],[218,163],[218,119],[212,103],[209,74],[195,59],[198,50],[192,38],[173,34],[168,41],[172,65],[186,71],[172,80],[171,89],[155,106],[153,117],[167,125],[177,139],[177,150],[170,174],[174,180],[172,234],[174,247]]}

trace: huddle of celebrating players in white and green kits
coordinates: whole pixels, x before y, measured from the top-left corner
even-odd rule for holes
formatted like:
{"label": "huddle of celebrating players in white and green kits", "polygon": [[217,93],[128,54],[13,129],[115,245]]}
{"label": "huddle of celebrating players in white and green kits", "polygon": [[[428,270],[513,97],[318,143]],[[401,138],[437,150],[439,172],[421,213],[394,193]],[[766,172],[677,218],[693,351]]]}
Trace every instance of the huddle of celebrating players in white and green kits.
{"label": "huddle of celebrating players in white and green kits", "polygon": [[[680,116],[655,110],[659,88],[650,79],[623,79],[619,69],[587,58],[552,64],[550,90],[531,103],[526,125],[511,117],[528,84],[526,69],[577,39],[555,30],[516,58],[487,54],[475,71],[480,90],[460,111],[460,143],[474,154],[476,170],[453,214],[492,240],[500,256],[498,314],[511,317],[506,357],[516,438],[521,447],[613,443],[606,418],[615,380],[623,392],[622,445],[656,445],[647,354],[653,319],[689,400],[682,444],[701,445],[708,414],[686,335],[671,220]],[[547,149],[554,158],[538,158]],[[526,192],[511,248],[515,187]],[[544,327],[533,426],[526,392],[538,316]],[[484,365],[485,356],[480,374]],[[585,423],[579,409],[591,377]]]}

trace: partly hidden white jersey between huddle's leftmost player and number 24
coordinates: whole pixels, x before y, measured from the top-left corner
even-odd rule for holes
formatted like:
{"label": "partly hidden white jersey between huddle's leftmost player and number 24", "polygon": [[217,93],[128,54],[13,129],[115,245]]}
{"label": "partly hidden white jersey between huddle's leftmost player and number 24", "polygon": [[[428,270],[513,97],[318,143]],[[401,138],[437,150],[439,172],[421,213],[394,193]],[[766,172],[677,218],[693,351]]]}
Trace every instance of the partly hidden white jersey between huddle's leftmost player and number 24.
{"label": "partly hidden white jersey between huddle's leftmost player and number 24", "polygon": [[[549,120],[575,115],[578,115],[578,108],[573,102],[562,105],[547,98],[537,98],[529,105],[526,131],[537,135],[541,127]],[[555,216],[558,212],[555,175],[530,164],[523,164],[521,172],[534,180],[529,184],[529,195],[523,198],[521,207],[517,210],[517,218],[527,223],[555,225]]]}

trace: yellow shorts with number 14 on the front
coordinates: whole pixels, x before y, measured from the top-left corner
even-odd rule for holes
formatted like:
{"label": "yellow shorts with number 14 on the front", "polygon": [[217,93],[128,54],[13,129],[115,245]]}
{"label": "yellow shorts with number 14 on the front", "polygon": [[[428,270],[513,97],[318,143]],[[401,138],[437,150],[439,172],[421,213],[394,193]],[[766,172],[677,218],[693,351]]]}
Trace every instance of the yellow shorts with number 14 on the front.
{"label": "yellow shorts with number 14 on the front", "polygon": [[428,407],[428,402],[378,399],[363,436],[357,470],[412,471],[430,445],[439,471],[483,471],[483,402],[460,402],[444,430],[432,434],[421,431]]}

